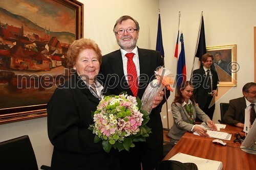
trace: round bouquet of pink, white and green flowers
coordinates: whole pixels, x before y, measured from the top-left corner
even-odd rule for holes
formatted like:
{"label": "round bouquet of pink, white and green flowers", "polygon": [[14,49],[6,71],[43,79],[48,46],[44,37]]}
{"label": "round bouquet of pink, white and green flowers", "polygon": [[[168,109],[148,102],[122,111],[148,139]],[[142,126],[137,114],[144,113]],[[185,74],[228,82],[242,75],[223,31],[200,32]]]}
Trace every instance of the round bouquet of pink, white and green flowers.
{"label": "round bouquet of pink, white and green flowers", "polygon": [[133,142],[145,141],[151,133],[146,126],[150,118],[140,108],[140,99],[126,92],[105,96],[97,110],[92,111],[94,124],[88,129],[96,134],[94,142],[102,140],[104,151],[109,153],[112,147],[129,151],[130,147],[135,147]]}

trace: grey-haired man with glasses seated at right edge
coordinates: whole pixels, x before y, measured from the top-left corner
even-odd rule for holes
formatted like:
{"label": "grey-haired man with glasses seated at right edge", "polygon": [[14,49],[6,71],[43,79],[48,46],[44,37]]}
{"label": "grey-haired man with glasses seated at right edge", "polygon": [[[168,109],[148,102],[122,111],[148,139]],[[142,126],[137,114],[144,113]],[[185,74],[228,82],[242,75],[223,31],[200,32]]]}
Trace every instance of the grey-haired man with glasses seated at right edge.
{"label": "grey-haired man with glasses seated at right edge", "polygon": [[244,128],[245,109],[250,110],[250,126],[255,119],[256,83],[246,83],[243,87],[243,97],[229,101],[229,107],[223,117],[223,123]]}

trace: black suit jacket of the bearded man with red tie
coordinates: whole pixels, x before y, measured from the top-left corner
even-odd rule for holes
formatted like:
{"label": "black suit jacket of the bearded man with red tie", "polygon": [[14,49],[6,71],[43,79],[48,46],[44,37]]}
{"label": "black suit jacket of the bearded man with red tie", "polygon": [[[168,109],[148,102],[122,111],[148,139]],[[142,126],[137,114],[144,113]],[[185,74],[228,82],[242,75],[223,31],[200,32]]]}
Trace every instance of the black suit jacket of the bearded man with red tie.
{"label": "black suit jacket of the bearded man with red tie", "polygon": [[[138,97],[141,99],[147,85],[151,80],[155,79],[154,71],[158,66],[164,64],[164,60],[159,52],[153,50],[138,48],[138,54],[140,64]],[[133,95],[124,77],[120,50],[102,57],[99,78],[105,83],[104,86],[108,87],[112,94],[117,95],[122,91],[127,91],[129,95]],[[166,96],[168,98],[169,91],[166,93]],[[146,142],[151,149],[156,149],[163,145],[163,126],[160,112],[164,102],[165,97],[161,104],[152,110],[150,120],[147,123],[147,126],[152,128],[152,134],[146,138]]]}

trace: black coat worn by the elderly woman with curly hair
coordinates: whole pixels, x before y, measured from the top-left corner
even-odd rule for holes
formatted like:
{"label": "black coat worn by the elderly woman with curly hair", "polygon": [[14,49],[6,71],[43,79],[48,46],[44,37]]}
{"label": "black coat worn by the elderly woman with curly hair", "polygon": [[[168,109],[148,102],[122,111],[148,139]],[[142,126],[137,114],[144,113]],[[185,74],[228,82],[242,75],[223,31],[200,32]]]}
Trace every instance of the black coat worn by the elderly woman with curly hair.
{"label": "black coat worn by the elderly woman with curly hair", "polygon": [[48,136],[54,146],[51,169],[113,169],[116,150],[105,153],[88,130],[99,99],[76,76],[59,86],[47,105]]}

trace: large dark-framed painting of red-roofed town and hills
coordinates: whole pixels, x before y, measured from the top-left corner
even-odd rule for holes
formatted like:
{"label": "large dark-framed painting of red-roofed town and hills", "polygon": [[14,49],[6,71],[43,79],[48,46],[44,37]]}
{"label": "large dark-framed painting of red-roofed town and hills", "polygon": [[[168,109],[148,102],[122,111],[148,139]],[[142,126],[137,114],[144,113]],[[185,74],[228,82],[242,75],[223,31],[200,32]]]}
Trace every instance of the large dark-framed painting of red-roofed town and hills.
{"label": "large dark-framed painting of red-roofed town and hills", "polygon": [[0,2],[0,124],[47,116],[53,91],[70,76],[68,47],[82,37],[78,1]]}

